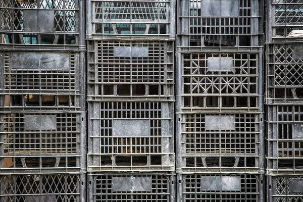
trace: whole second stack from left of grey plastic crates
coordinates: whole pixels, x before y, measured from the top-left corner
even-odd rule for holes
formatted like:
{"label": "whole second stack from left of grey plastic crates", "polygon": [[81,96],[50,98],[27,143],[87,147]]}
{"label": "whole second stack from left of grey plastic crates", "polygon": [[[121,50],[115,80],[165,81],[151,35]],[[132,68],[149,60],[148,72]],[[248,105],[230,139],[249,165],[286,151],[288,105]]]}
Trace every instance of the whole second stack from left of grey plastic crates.
{"label": "whole second stack from left of grey plastic crates", "polygon": [[174,201],[174,2],[86,9],[88,201]]}

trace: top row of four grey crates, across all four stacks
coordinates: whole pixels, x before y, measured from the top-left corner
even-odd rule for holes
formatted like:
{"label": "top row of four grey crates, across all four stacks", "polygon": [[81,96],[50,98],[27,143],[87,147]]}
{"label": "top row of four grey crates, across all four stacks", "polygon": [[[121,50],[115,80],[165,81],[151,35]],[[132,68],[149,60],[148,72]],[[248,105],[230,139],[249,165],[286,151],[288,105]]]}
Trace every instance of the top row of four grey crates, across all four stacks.
{"label": "top row of four grey crates, across all four stacks", "polygon": [[[87,39],[174,40],[178,50],[262,50],[263,1],[2,0],[1,43],[16,49],[85,49]],[[267,42],[300,41],[303,3],[267,1]],[[224,8],[224,9],[221,9]],[[177,31],[175,18],[177,13]],[[35,16],[35,17],[30,17]]]}

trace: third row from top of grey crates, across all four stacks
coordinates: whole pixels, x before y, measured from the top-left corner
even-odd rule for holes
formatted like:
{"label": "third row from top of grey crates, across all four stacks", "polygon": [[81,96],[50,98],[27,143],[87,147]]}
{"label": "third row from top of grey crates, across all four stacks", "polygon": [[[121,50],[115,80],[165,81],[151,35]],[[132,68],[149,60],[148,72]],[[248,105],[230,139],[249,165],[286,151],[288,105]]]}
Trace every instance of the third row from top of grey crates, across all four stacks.
{"label": "third row from top of grey crates, across all four stacks", "polygon": [[[1,113],[1,170],[85,169],[86,138],[88,171],[175,169],[173,103],[88,105],[87,137],[85,113]],[[303,106],[268,108],[268,173],[302,173]],[[259,172],[264,133],[262,114],[177,114],[177,169]]]}

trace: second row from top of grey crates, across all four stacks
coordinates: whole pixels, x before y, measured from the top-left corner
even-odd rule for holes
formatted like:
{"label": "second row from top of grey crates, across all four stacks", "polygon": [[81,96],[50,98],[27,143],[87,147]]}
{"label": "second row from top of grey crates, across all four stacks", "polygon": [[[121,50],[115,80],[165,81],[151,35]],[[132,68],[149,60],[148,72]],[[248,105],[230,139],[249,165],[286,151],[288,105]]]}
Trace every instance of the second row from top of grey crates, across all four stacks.
{"label": "second row from top of grey crates, across all four stacks", "polygon": [[[302,103],[300,49],[294,43],[267,46],[266,104]],[[91,41],[87,54],[89,100],[174,100],[173,43]],[[176,60],[177,111],[260,111],[262,53],[177,53]],[[5,111],[81,111],[85,106],[83,53],[4,51],[1,64]]]}

